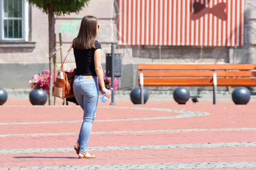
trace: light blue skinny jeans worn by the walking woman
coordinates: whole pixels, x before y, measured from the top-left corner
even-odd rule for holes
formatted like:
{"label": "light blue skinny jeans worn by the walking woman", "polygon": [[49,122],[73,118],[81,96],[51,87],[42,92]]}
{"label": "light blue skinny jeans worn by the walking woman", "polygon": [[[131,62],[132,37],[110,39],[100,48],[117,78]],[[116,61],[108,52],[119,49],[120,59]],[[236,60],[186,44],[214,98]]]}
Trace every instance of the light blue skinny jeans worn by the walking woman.
{"label": "light blue skinny jeans worn by the walking woman", "polygon": [[80,152],[86,152],[99,99],[98,77],[75,76],[73,91],[77,102],[84,111],[77,142],[80,142]]}

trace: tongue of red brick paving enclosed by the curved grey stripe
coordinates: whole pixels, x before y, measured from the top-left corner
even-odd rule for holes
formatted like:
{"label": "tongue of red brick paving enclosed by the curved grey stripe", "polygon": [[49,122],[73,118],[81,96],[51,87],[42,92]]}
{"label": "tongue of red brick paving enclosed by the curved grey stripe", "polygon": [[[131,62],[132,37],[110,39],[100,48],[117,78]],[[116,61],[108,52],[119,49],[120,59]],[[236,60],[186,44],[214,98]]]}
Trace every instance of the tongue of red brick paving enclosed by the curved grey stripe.
{"label": "tongue of red brick paving enclosed by the curved grey stripe", "polygon": [[[107,111],[105,108],[98,108],[96,111],[97,119],[131,119],[143,117],[162,117],[162,116],[177,116],[180,113],[170,113],[163,111],[154,111],[148,113],[147,110],[134,109],[111,109]],[[10,114],[12,113],[12,114]],[[83,111],[80,107],[58,108],[51,107],[38,108],[31,107],[29,112],[23,113],[23,108],[20,107],[4,107],[0,112],[1,122],[51,122],[51,121],[72,121],[83,118]]]}

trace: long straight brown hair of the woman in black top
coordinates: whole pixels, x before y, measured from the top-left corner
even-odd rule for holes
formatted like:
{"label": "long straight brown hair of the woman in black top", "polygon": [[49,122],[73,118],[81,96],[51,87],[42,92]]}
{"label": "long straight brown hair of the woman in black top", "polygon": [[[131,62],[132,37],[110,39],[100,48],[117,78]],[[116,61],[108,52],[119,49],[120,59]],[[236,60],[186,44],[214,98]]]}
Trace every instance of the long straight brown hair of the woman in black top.
{"label": "long straight brown hair of the woman in black top", "polygon": [[97,24],[96,17],[87,15],[83,17],[79,33],[75,39],[74,47],[78,49],[95,48],[94,42],[97,38]]}

